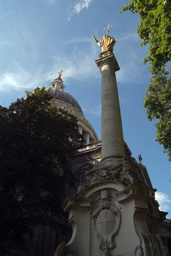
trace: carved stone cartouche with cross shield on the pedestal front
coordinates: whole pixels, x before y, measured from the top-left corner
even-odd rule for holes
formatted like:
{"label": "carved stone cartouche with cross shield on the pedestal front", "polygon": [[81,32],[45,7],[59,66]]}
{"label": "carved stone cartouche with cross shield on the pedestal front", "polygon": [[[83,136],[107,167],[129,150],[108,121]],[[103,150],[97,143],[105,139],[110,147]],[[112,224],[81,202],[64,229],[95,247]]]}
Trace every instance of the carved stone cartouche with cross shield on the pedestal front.
{"label": "carved stone cartouche with cross shield on the pedestal front", "polygon": [[93,212],[93,228],[100,239],[99,248],[104,255],[110,255],[114,248],[114,236],[121,223],[121,212],[115,207],[108,196],[108,191],[101,191],[101,203]]}

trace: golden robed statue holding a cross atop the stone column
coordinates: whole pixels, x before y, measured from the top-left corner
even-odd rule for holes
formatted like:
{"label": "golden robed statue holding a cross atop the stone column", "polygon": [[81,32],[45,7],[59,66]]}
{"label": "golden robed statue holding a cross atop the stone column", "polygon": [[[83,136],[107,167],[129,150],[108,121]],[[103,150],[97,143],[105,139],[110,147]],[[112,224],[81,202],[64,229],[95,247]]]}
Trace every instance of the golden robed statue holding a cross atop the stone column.
{"label": "golden robed statue holding a cross atop the stone column", "polygon": [[94,40],[101,47],[102,52],[105,52],[105,51],[113,52],[114,44],[115,44],[115,38],[113,36],[108,35],[109,28],[111,28],[112,26],[110,26],[110,24],[108,24],[107,28],[104,28],[104,29],[107,29],[107,35],[104,35],[101,40],[98,40],[95,35],[92,35]]}

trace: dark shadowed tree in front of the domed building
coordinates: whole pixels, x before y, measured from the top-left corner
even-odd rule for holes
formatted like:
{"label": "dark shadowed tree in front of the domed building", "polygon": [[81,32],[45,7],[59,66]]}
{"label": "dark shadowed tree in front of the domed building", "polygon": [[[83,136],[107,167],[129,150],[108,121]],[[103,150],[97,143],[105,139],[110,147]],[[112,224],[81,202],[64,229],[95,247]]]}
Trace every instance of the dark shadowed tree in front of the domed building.
{"label": "dark shadowed tree in front of the domed building", "polygon": [[27,216],[60,211],[64,186],[74,181],[71,159],[82,141],[77,120],[54,108],[45,88],[1,108],[1,114],[0,247],[1,255],[15,255],[26,245]]}

